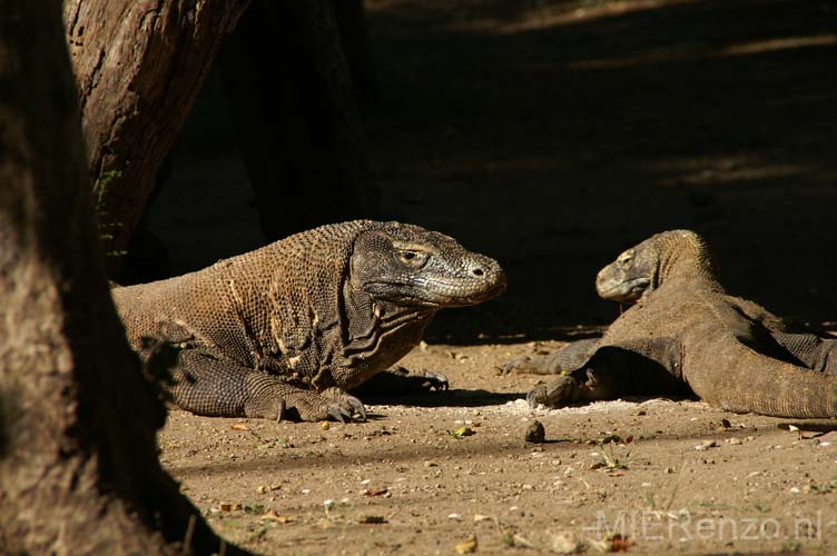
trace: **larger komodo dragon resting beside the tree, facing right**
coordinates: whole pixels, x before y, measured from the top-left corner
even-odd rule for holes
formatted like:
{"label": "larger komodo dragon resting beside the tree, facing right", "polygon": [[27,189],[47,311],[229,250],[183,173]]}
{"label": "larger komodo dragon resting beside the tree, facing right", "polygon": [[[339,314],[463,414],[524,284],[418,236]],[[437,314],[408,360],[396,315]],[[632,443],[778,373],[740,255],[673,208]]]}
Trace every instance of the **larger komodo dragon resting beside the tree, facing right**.
{"label": "larger komodo dragon resting beside the tree, facing right", "polygon": [[496,261],[398,222],[323,226],[197,272],[112,289],[128,339],[178,346],[171,387],[210,416],[365,418],[346,393],[422,338],[439,309],[499,296]]}

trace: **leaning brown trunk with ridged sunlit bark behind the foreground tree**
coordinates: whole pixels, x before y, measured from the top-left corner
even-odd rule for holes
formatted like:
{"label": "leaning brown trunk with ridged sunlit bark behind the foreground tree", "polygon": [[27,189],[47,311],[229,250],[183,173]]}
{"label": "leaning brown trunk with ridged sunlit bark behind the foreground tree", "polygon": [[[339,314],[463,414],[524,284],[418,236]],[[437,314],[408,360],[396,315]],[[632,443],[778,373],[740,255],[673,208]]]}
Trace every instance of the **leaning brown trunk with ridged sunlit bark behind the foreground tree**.
{"label": "leaning brown trunk with ridged sunlit bark behind the foreground tree", "polygon": [[125,249],[157,170],[247,3],[65,0],[90,176],[101,199],[97,211],[112,236],[108,251]]}

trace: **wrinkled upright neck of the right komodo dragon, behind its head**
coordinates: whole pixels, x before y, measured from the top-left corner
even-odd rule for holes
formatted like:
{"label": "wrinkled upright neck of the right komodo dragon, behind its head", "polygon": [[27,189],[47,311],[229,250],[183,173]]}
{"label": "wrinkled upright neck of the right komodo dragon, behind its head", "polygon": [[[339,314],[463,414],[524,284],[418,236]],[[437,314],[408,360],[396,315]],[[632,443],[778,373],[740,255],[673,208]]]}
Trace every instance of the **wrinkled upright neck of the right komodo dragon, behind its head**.
{"label": "wrinkled upright neck of the right komodo dragon, behind its head", "polygon": [[657,276],[652,277],[653,287],[646,291],[643,298],[664,284],[693,282],[722,291],[712,254],[702,240],[696,236],[663,235],[654,244],[659,252]]}

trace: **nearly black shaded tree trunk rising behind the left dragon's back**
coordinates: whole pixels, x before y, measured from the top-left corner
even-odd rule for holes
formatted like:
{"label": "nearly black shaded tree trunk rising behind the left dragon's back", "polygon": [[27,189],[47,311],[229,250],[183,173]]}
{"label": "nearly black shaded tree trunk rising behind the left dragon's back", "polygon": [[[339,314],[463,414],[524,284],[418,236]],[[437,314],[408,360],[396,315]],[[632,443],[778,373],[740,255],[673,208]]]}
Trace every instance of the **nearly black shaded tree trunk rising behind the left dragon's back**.
{"label": "nearly black shaded tree trunk rising behind the left dragon's back", "polygon": [[376,216],[377,183],[327,0],[254,0],[219,67],[266,239]]}

